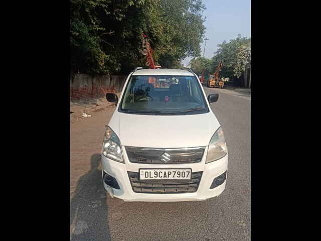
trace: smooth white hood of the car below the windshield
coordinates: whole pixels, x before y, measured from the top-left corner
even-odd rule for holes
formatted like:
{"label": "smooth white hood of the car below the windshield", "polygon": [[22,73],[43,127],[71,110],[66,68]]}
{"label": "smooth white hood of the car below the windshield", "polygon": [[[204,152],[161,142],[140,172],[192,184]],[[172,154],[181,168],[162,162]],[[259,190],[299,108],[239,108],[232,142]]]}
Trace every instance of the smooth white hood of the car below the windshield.
{"label": "smooth white hood of the car below the windshield", "polygon": [[109,127],[123,146],[185,148],[208,146],[220,124],[212,111],[188,115],[141,115],[115,110]]}

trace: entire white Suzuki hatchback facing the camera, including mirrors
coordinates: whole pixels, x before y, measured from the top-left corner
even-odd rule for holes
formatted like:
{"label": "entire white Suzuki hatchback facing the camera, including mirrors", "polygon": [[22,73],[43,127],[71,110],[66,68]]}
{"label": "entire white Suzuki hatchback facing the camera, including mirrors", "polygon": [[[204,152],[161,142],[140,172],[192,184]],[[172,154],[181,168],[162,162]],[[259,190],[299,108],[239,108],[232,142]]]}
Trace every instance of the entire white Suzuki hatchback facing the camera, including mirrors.
{"label": "entire white Suzuki hatchback facing the camera, including mirrors", "polygon": [[225,189],[228,154],[222,127],[192,71],[129,74],[102,143],[102,181],[124,201],[197,201]]}

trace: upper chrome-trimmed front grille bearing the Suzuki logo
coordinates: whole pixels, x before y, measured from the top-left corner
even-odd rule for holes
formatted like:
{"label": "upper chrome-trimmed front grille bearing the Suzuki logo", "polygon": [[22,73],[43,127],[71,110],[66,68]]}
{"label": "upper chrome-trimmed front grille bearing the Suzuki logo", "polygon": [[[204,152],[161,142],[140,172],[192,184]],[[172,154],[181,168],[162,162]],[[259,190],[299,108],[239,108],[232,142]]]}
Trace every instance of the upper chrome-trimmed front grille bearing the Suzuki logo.
{"label": "upper chrome-trimmed front grille bearing the Suzuki logo", "polygon": [[128,159],[143,164],[190,164],[202,161],[205,147],[194,148],[141,148],[125,147]]}

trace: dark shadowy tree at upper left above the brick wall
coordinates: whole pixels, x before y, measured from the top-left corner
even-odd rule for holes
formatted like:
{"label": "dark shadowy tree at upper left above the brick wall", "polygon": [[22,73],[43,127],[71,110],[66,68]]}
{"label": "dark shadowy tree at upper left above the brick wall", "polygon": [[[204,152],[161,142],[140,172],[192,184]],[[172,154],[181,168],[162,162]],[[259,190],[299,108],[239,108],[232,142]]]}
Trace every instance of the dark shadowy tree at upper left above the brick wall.
{"label": "dark shadowy tree at upper left above the brick wall", "polygon": [[73,71],[125,73],[143,61],[141,32],[148,29],[153,0],[71,0]]}

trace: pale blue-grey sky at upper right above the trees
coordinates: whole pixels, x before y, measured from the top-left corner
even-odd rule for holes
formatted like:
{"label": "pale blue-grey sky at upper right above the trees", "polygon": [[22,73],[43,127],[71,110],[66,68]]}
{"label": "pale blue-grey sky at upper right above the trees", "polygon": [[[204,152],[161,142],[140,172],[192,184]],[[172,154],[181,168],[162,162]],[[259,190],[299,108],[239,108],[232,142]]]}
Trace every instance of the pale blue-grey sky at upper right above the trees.
{"label": "pale blue-grey sky at upper right above the trees", "polygon": [[[203,0],[206,10],[204,23],[206,41],[206,58],[212,58],[217,51],[217,45],[224,40],[229,42],[238,34],[241,37],[251,36],[251,0]],[[204,44],[201,43],[201,55],[203,56]],[[187,66],[192,58],[186,58],[182,62]]]}

